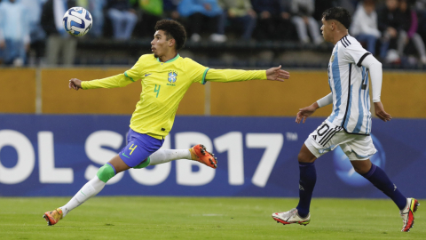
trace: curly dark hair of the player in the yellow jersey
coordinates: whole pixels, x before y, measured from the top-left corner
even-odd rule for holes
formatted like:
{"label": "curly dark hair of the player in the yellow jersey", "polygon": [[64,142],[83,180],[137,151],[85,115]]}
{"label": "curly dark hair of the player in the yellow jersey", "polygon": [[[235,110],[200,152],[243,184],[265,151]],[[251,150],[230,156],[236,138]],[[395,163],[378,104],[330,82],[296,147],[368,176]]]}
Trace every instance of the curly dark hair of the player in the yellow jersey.
{"label": "curly dark hair of the player in the yellow jersey", "polygon": [[155,31],[163,30],[167,36],[167,40],[170,38],[175,39],[176,51],[184,47],[186,42],[185,27],[176,20],[159,20],[155,24],[154,29]]}

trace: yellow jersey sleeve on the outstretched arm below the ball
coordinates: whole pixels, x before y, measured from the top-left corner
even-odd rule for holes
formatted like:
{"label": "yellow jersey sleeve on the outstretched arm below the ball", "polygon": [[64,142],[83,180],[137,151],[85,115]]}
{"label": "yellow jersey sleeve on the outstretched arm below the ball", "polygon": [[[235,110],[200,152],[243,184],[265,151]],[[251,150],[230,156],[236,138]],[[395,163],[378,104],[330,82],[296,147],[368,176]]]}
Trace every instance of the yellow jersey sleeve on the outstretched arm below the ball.
{"label": "yellow jersey sleeve on the outstretched arm below the ball", "polygon": [[140,72],[142,71],[142,62],[144,56],[140,57],[133,68],[125,71],[123,74],[116,76],[109,76],[102,79],[96,79],[92,81],[83,81],[82,88],[85,89],[95,89],[95,88],[115,88],[115,87],[124,87],[128,84],[136,82],[141,78]]}

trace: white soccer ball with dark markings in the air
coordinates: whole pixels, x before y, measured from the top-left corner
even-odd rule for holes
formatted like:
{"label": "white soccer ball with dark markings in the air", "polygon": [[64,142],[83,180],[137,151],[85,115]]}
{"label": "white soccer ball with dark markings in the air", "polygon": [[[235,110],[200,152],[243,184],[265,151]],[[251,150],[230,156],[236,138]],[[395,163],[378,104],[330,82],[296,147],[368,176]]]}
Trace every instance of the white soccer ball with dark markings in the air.
{"label": "white soccer ball with dark markings in the air", "polygon": [[91,29],[92,23],[91,12],[83,7],[68,9],[62,20],[65,30],[72,36],[84,36]]}

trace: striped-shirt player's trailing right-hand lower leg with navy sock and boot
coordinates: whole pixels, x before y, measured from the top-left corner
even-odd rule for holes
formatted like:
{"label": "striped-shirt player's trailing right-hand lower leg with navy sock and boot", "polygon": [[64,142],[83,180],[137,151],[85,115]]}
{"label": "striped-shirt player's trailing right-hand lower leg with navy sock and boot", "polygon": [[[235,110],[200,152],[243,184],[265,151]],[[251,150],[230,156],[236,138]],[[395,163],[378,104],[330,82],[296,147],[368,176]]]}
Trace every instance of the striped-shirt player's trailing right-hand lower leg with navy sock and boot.
{"label": "striped-shirt player's trailing right-hand lower leg with navy sock and boot", "polygon": [[373,183],[375,188],[381,190],[397,204],[399,215],[403,221],[401,231],[410,231],[410,228],[414,226],[414,212],[417,211],[417,207],[420,205],[419,202],[414,198],[406,198],[406,196],[402,195],[397,186],[389,179],[386,172],[379,166],[372,164],[369,159],[351,161],[351,164],[356,172]]}

